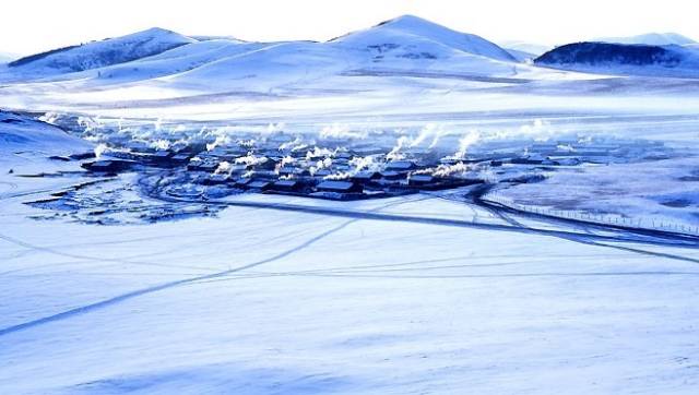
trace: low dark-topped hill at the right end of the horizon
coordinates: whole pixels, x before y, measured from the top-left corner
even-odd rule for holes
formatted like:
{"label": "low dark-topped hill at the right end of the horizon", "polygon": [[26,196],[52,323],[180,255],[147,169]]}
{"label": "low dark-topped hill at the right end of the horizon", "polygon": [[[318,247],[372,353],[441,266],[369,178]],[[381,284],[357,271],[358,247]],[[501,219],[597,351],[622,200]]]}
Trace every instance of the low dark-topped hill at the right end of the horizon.
{"label": "low dark-topped hill at the right end of the horizon", "polygon": [[604,74],[699,76],[699,51],[678,45],[576,43],[550,50],[534,62]]}

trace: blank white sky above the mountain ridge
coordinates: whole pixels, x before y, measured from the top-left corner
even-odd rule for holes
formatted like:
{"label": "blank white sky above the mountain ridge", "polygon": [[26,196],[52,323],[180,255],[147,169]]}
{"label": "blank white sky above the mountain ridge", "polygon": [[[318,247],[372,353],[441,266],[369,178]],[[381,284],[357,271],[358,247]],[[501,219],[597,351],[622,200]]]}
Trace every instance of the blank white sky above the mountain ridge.
{"label": "blank white sky above the mountain ridge", "polygon": [[699,39],[696,0],[8,0],[0,51],[33,53],[153,26],[247,40],[329,39],[414,14],[490,40],[565,44],[676,32]]}

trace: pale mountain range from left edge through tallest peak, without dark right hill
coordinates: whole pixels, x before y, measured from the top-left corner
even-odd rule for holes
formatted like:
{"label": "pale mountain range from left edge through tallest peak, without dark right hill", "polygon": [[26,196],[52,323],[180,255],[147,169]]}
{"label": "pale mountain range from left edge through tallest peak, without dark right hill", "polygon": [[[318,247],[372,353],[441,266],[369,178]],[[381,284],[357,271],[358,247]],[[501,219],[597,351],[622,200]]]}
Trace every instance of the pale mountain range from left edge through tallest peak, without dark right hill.
{"label": "pale mountain range from left edge through tallest peak, without dark right hill", "polygon": [[404,15],[328,43],[247,43],[154,28],[19,59],[3,80],[116,84],[158,79],[179,87],[253,91],[346,72],[509,76],[514,57],[482,37]]}

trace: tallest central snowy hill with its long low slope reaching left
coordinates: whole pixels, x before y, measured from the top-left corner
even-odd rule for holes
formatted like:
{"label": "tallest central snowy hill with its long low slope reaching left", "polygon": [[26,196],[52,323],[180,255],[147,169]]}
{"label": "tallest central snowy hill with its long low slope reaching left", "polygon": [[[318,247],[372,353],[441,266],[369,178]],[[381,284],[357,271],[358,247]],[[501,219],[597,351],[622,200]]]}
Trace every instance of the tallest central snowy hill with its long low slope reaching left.
{"label": "tallest central snowy hill with its long low slope reaching left", "polygon": [[406,15],[328,43],[206,38],[70,77],[93,84],[155,79],[158,86],[199,92],[266,93],[346,73],[512,76],[518,67],[526,68],[490,41]]}

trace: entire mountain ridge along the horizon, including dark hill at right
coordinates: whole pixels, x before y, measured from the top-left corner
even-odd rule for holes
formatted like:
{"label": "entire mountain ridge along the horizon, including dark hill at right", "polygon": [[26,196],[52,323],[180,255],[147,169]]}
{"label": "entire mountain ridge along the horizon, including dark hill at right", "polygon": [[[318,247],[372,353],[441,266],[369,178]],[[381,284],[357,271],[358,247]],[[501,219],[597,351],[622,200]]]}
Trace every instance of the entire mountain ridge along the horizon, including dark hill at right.
{"label": "entire mountain ridge along the horizon, including dark hill at right", "polygon": [[324,43],[254,43],[227,36],[185,36],[156,27],[13,60],[0,68],[0,81],[79,81],[99,86],[152,80],[159,86],[201,92],[252,89],[269,94],[275,87],[307,85],[341,75],[523,81],[521,75],[526,79],[541,73],[560,74],[550,70],[559,69],[596,74],[699,76],[697,44],[685,44],[694,43],[690,39],[676,34],[625,39],[672,45],[587,41],[541,55],[546,47],[508,41],[510,47],[503,48],[414,15],[399,16]]}

